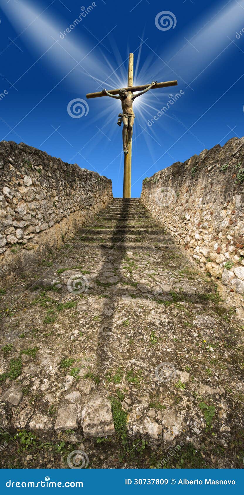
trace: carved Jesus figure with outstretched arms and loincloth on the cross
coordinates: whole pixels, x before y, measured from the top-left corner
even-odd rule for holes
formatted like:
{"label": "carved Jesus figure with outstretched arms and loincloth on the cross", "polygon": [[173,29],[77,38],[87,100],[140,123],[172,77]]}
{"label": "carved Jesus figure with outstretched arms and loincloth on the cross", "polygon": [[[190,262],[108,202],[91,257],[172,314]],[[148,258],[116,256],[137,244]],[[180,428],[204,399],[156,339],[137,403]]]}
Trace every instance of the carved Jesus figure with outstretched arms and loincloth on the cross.
{"label": "carved Jesus figure with outstretched arms and loincloth on the cross", "polygon": [[133,134],[133,124],[134,124],[135,115],[132,109],[132,103],[135,98],[144,95],[144,93],[149,91],[153,86],[155,86],[155,84],[157,84],[157,81],[153,81],[152,84],[150,84],[150,86],[148,86],[144,91],[141,91],[136,95],[133,95],[131,91],[127,91],[126,89],[121,89],[119,92],[119,96],[111,95],[111,93],[109,93],[106,89],[103,90],[103,93],[105,95],[110,96],[111,98],[120,99],[122,103],[123,113],[119,113],[118,124],[119,126],[121,126],[123,122],[122,137],[123,137],[124,154],[128,154],[128,146],[132,139],[132,134]]}

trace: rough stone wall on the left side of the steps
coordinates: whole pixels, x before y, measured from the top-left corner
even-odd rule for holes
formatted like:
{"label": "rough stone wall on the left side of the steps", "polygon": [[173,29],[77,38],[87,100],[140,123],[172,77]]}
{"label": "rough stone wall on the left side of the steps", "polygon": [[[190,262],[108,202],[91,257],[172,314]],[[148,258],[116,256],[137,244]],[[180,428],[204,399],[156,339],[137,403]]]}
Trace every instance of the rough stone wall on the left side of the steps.
{"label": "rough stone wall on the left side of the steps", "polygon": [[24,143],[0,142],[0,278],[58,247],[112,198],[106,177]]}

